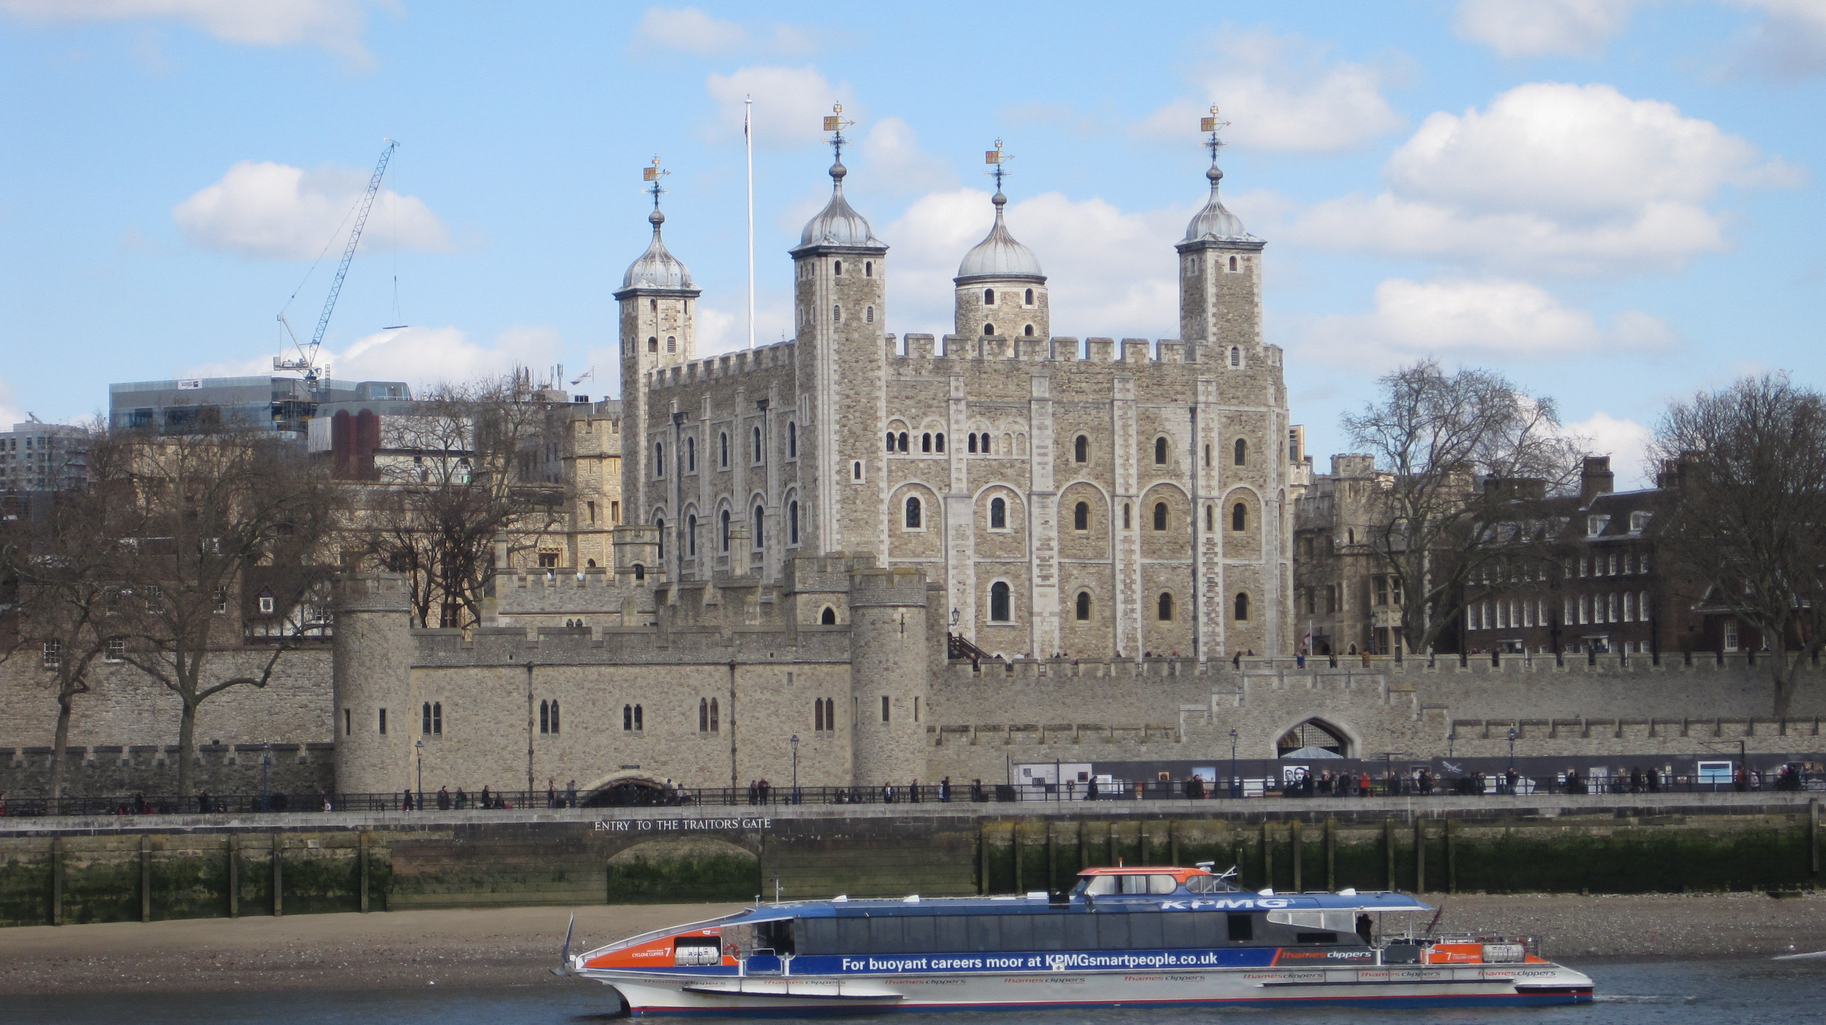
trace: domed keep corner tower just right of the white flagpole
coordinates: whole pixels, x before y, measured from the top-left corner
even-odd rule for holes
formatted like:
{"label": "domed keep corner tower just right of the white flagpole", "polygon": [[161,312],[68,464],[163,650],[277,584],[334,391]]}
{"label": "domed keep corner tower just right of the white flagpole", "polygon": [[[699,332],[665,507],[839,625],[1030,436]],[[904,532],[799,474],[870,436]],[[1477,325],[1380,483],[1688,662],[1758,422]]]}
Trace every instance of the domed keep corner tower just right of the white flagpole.
{"label": "domed keep corner tower just right of the white flagpole", "polygon": [[887,247],[844,199],[842,133],[831,203],[792,252],[794,387],[800,444],[813,460],[813,552],[887,554]]}

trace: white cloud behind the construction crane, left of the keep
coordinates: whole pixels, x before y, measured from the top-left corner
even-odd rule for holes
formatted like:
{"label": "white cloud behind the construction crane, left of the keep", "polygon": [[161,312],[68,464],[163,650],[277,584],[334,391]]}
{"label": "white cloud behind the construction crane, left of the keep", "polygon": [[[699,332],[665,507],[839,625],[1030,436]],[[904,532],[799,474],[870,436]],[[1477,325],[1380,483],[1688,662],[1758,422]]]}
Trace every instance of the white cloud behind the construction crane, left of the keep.
{"label": "white cloud behind the construction crane, left of the keep", "polygon": [[[241,161],[221,181],[172,208],[192,245],[261,259],[314,259],[340,245],[367,172]],[[425,203],[389,188],[374,197],[363,248],[449,248],[449,232]]]}

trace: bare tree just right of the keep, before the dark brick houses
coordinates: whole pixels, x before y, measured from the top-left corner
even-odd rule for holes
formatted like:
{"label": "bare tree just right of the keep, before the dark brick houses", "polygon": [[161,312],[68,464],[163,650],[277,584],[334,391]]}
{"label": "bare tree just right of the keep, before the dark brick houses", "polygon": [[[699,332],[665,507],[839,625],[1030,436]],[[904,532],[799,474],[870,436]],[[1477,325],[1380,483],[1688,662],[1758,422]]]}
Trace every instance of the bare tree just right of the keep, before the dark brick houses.
{"label": "bare tree just right of the keep, before the dark brick houses", "polygon": [[1486,481],[1556,493],[1578,477],[1579,439],[1559,426],[1552,398],[1492,371],[1446,375],[1422,360],[1380,384],[1382,396],[1342,426],[1382,473],[1364,541],[1401,596],[1408,650],[1424,652],[1455,627],[1472,576],[1525,539],[1537,515],[1517,497],[1525,491],[1486,490]]}

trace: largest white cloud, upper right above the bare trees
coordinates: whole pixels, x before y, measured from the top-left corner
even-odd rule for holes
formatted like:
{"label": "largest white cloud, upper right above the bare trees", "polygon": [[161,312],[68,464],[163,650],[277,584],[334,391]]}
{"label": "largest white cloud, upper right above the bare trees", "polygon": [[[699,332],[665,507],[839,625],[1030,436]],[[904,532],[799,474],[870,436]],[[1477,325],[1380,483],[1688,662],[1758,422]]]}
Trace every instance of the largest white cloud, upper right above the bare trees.
{"label": "largest white cloud, upper right above the bare trees", "polygon": [[1433,113],[1384,166],[1390,190],[1320,203],[1309,245],[1592,274],[1680,269],[1727,248],[1726,185],[1800,174],[1709,121],[1611,86],[1534,82],[1486,111]]}

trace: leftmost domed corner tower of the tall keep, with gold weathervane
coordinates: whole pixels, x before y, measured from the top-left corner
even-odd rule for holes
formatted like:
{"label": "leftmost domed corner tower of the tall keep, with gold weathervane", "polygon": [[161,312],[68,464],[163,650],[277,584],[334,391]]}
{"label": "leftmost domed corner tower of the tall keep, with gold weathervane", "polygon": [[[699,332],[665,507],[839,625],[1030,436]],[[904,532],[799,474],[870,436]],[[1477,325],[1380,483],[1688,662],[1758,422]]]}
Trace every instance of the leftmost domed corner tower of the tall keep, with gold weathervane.
{"label": "leftmost domed corner tower of the tall keep, with gold weathervane", "polygon": [[[659,185],[654,183],[654,241],[621,278],[615,300],[621,303],[621,502],[623,523],[650,524],[659,506],[676,508],[670,493],[677,486],[677,431],[648,433],[652,389],[646,376],[663,367],[687,364],[698,354],[692,325],[698,287],[690,270],[666,250],[659,227]],[[657,460],[665,460],[661,466]],[[672,524],[676,530],[677,524]],[[666,537],[666,541],[672,541]],[[677,544],[668,544],[668,557]]]}

